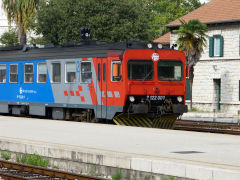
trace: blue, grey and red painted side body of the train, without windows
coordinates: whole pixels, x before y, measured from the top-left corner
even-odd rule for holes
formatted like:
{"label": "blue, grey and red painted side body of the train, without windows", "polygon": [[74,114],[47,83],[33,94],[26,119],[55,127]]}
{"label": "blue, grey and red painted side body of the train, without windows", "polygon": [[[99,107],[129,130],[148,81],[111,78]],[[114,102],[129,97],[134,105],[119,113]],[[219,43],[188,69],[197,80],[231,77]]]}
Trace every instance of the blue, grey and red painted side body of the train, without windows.
{"label": "blue, grey and red painted side body of the train, without windows", "polygon": [[[115,57],[115,59],[119,58]],[[39,63],[46,63],[47,65],[47,80],[44,83],[39,83],[37,80]],[[66,66],[71,65],[71,63],[76,67],[76,71],[74,81],[68,82],[67,78],[69,77],[68,72],[66,72],[68,67]],[[113,83],[111,81],[111,59],[28,60],[7,61],[1,62],[1,64],[6,65],[7,75],[6,82],[0,83],[0,112],[2,113],[8,113],[9,109],[19,109],[21,111],[20,106],[28,106],[30,114],[44,116],[46,107],[58,108],[56,111],[63,111],[64,108],[75,108],[92,109],[96,118],[112,119],[116,112],[121,112],[123,109],[119,101],[121,99],[121,92],[119,91],[121,82]],[[17,83],[9,82],[10,64],[18,66]],[[24,82],[24,65],[26,64],[33,65],[34,68],[32,83]],[[59,77],[54,76],[53,64],[60,66]],[[87,67],[87,65],[91,78],[84,80],[83,76],[87,73],[83,73],[83,66]],[[54,78],[58,80],[55,81]],[[15,114],[20,114],[20,112]]]}

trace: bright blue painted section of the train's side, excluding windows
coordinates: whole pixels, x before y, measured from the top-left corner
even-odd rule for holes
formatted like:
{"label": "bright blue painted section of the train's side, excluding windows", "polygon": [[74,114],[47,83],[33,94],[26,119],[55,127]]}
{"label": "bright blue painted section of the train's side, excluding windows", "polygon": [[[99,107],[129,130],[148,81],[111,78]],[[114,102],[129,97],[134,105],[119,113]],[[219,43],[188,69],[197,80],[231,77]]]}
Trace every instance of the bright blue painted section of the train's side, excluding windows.
{"label": "bright blue painted section of the train's side, excluding windows", "polygon": [[[0,101],[20,101],[20,102],[41,102],[54,103],[54,96],[47,72],[47,82],[37,83],[37,63],[45,60],[28,61],[8,61],[0,62],[6,64],[6,83],[0,83]],[[24,63],[34,64],[34,82],[24,83]],[[18,83],[9,83],[9,65],[18,64]]]}

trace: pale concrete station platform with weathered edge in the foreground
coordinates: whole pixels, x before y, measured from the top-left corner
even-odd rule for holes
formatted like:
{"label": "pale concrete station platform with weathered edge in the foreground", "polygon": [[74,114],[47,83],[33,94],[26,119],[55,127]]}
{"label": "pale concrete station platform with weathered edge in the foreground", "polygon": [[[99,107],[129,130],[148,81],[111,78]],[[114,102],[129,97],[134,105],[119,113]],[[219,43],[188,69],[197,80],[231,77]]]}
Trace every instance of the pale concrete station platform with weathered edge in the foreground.
{"label": "pale concrete station platform with weathered edge in the foreground", "polygon": [[38,153],[75,172],[86,163],[183,179],[240,179],[234,135],[0,116],[0,149]]}

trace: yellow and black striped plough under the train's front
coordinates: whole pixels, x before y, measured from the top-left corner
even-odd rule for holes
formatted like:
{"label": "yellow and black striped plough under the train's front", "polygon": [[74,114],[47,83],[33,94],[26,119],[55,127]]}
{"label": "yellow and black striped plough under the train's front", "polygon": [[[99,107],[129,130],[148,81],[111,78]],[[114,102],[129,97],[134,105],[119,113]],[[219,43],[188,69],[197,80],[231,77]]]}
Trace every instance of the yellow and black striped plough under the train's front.
{"label": "yellow and black striped plough under the train's front", "polygon": [[119,114],[113,118],[113,121],[121,126],[173,129],[177,117],[178,115],[166,115],[150,119],[144,115]]}

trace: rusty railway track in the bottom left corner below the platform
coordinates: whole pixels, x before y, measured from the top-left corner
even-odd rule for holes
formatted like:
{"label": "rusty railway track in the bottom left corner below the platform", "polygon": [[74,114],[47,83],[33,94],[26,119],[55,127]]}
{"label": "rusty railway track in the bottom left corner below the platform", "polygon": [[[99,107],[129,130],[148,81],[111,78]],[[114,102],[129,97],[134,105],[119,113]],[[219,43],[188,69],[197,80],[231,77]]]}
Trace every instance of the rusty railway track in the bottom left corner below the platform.
{"label": "rusty railway track in the bottom left corner below the platform", "polygon": [[53,169],[13,163],[0,160],[0,179],[26,180],[26,179],[74,179],[74,180],[106,180],[105,178],[91,177]]}

